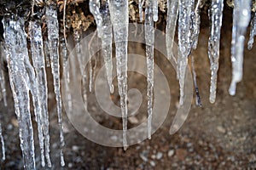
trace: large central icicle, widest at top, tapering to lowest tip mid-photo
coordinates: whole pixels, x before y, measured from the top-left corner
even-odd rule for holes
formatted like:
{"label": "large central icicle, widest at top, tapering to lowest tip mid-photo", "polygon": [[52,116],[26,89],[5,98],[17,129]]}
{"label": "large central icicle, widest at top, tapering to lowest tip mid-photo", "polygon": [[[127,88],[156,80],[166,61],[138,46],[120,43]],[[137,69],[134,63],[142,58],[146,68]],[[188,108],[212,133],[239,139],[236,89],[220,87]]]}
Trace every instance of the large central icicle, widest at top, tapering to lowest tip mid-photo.
{"label": "large central icicle, widest at top, tapering to lowest tip mid-photo", "polygon": [[120,106],[123,118],[123,145],[127,148],[127,46],[128,46],[128,1],[109,0],[109,12],[113,25],[116,48],[116,65]]}

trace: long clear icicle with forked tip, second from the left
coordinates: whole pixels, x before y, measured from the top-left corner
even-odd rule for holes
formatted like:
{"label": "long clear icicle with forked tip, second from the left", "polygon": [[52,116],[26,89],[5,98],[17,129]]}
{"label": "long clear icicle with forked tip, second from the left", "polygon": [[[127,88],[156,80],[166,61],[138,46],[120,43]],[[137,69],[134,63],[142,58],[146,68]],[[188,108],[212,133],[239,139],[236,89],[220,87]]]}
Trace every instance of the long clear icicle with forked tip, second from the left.
{"label": "long clear icicle with forked tip, second from the left", "polygon": [[[48,167],[51,167],[49,158],[49,115],[48,115],[48,89],[47,78],[45,71],[44,61],[44,46],[41,26],[38,23],[31,21],[29,23],[31,51],[32,51],[32,63],[36,71],[36,82],[38,84],[38,103],[41,108],[41,112],[38,118],[38,122],[41,124],[41,128],[38,129],[38,133],[44,133],[43,140],[40,141],[42,166],[44,167],[44,146],[45,157],[48,162]],[[42,132],[43,131],[43,132]]]}

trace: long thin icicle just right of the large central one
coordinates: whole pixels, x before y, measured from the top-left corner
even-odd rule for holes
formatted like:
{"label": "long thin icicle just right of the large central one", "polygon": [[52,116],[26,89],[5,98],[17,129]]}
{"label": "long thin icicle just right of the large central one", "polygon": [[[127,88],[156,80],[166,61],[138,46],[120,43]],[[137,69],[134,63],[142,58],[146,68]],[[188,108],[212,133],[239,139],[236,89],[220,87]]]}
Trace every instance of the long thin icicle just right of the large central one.
{"label": "long thin icicle just right of the large central one", "polygon": [[148,139],[151,139],[151,122],[153,110],[154,87],[154,0],[146,1],[145,9],[145,40],[147,56],[147,96],[148,96]]}

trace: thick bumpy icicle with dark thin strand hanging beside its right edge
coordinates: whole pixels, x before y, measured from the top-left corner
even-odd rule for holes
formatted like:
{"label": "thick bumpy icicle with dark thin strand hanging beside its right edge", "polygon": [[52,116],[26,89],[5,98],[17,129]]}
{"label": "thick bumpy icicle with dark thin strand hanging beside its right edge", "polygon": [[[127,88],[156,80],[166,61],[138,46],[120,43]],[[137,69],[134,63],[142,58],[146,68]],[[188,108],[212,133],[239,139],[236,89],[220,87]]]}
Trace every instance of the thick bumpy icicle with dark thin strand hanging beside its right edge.
{"label": "thick bumpy icicle with dark thin strand hanging beside its right edge", "polygon": [[177,77],[180,86],[180,100],[179,104],[183,105],[183,88],[185,72],[188,65],[188,56],[191,51],[191,31],[190,31],[190,14],[191,14],[192,0],[179,0],[178,3],[178,54],[177,54]]}

